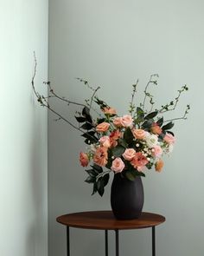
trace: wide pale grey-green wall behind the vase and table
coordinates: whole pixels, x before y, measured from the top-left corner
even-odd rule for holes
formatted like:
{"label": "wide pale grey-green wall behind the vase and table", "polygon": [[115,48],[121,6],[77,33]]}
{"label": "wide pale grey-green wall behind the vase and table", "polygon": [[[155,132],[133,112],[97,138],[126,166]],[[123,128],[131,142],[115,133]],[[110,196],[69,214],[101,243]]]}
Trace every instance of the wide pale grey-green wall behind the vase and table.
{"label": "wide pale grey-green wall behind the vase and table", "polygon": [[[163,174],[143,179],[144,211],[162,213],[167,221],[156,229],[158,256],[203,255],[204,187],[204,3],[201,0],[61,0],[50,1],[49,78],[60,95],[82,101],[87,90],[74,80],[101,85],[100,96],[121,115],[128,108],[131,84],[140,89],[154,73],[160,75],[158,104],[169,102],[184,83],[192,105],[188,121],[176,123],[175,151]],[[111,93],[114,92],[114,94]],[[138,101],[141,100],[138,95]],[[70,118],[66,105],[54,103]],[[74,112],[73,112],[74,113]],[[66,232],[55,218],[63,213],[110,209],[110,187],[104,197],[91,196],[78,162],[85,145],[78,133],[49,115],[49,256],[66,255]],[[104,236],[71,230],[72,255],[104,255]],[[150,255],[150,230],[121,233],[121,255]],[[114,255],[111,235],[110,255]]]}

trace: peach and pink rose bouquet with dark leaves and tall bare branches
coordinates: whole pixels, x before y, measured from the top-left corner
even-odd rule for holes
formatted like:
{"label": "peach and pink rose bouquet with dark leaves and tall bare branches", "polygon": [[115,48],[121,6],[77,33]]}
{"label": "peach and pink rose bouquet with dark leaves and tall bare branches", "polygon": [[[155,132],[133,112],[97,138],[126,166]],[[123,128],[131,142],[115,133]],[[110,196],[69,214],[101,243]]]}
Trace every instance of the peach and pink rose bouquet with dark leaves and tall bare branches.
{"label": "peach and pink rose bouquet with dark leaves and tall bare branches", "polygon": [[[36,62],[35,62],[36,69]],[[181,117],[171,120],[164,120],[163,115],[166,112],[175,110],[179,98],[184,91],[188,90],[187,85],[178,90],[178,95],[174,101],[171,101],[161,108],[154,108],[155,102],[153,95],[150,95],[149,87],[151,84],[157,84],[158,75],[151,75],[144,89],[143,102],[136,106],[134,98],[137,93],[137,83],[132,86],[131,102],[129,111],[126,115],[119,115],[115,108],[109,106],[106,102],[99,99],[96,95],[99,87],[93,89],[89,83],[78,78],[89,89],[92,89],[92,97],[86,100],[86,104],[71,102],[65,97],[61,97],[48,85],[49,95],[45,97],[35,90],[34,79],[32,86],[41,106],[47,107],[54,115],[58,116],[57,120],[67,121],[73,128],[80,131],[88,145],[86,152],[80,152],[80,165],[90,168],[86,169],[88,174],[87,183],[92,183],[92,194],[98,192],[101,196],[104,194],[110,173],[120,173],[124,178],[133,181],[137,175],[145,176],[146,170],[155,168],[156,172],[163,169],[163,155],[169,154],[175,144],[175,135],[171,131],[174,122],[180,119],[187,119],[189,105]],[[79,126],[67,120],[64,116],[57,113],[48,102],[48,98],[55,98],[67,104],[75,104],[82,108],[75,115]],[[92,103],[99,106],[99,111],[93,108]],[[149,104],[150,110],[147,110],[146,103]],[[91,112],[97,113],[97,118],[93,119]],[[104,169],[105,168],[105,169]]]}

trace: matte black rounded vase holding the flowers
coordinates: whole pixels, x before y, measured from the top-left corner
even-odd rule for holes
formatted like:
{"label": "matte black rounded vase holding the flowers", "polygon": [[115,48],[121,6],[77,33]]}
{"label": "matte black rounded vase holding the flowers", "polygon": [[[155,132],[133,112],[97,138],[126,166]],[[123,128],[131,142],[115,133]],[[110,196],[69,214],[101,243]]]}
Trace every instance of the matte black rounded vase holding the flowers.
{"label": "matte black rounded vase holding the flowers", "polygon": [[112,213],[118,220],[138,219],[143,210],[143,182],[140,176],[130,181],[114,174],[111,190]]}

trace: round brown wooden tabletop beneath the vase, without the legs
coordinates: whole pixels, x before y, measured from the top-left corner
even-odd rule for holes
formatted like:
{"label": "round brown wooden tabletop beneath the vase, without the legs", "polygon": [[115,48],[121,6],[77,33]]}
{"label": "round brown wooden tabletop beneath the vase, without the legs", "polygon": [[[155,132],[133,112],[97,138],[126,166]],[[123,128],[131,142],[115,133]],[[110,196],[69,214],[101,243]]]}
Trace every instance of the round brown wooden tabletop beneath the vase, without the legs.
{"label": "round brown wooden tabletop beneath the vase, without the legs", "polygon": [[157,226],[163,223],[165,218],[155,213],[142,213],[139,219],[117,220],[113,216],[112,211],[94,211],[69,213],[59,216],[56,220],[65,226],[86,229],[119,230]]}

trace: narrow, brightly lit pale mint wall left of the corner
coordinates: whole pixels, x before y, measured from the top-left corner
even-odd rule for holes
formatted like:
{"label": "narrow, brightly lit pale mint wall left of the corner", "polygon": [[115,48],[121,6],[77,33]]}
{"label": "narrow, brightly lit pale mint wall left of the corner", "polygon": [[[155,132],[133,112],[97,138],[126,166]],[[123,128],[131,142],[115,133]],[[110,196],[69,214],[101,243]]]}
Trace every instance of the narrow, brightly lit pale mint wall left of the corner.
{"label": "narrow, brightly lit pale mint wall left of the corner", "polygon": [[[31,89],[48,77],[48,1],[0,1],[0,255],[48,255],[47,111]],[[46,89],[41,92],[46,93]]]}

